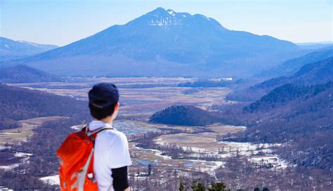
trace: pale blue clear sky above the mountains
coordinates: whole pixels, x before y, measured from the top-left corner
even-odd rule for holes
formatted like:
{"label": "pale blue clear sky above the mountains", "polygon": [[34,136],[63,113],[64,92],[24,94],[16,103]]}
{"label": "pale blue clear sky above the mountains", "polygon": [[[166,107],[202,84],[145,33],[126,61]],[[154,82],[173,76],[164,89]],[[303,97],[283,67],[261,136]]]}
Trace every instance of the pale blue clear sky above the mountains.
{"label": "pale blue clear sky above the mountains", "polygon": [[157,7],[293,42],[333,41],[333,0],[0,0],[0,36],[63,46]]}

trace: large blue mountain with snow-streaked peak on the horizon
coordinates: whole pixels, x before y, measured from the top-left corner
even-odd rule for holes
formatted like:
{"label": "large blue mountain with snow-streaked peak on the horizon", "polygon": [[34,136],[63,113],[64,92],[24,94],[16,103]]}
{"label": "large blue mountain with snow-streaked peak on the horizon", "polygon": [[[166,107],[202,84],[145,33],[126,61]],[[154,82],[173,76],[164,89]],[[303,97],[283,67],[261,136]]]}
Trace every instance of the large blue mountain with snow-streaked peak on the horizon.
{"label": "large blue mountain with snow-streaked peak on the horizon", "polygon": [[[230,60],[240,60],[240,65],[254,60],[247,66],[253,70],[261,57],[297,48],[289,41],[226,29],[204,15],[157,8],[125,25],[114,25],[22,62],[66,74],[78,72],[78,65],[83,74],[178,76],[183,74],[179,69],[185,70],[185,75],[209,70],[221,74],[230,67],[226,63]],[[117,72],[111,70],[115,67]]]}

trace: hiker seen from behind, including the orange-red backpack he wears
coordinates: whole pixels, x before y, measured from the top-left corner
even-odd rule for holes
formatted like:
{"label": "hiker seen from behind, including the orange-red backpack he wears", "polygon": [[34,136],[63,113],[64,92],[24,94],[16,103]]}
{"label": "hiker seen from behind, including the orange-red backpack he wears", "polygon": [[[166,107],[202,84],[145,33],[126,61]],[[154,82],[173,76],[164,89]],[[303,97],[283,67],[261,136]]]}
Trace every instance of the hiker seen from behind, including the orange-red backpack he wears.
{"label": "hiker seen from behind, including the orange-red backpack he wears", "polygon": [[[89,91],[93,121],[82,131],[68,136],[57,151],[62,190],[97,190],[97,187],[107,191],[130,190],[128,166],[131,165],[131,158],[127,138],[112,127],[118,108],[119,93],[114,84],[96,84]],[[85,153],[85,157],[81,153]],[[80,157],[85,158],[85,162]],[[68,167],[74,163],[74,167]]]}

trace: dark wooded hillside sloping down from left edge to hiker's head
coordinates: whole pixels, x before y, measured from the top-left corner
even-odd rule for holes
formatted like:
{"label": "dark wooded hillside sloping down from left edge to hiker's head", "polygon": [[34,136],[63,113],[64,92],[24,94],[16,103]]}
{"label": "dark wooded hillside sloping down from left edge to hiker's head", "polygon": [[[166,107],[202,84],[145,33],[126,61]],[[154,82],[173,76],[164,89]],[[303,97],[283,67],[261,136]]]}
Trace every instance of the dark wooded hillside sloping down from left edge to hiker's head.
{"label": "dark wooded hillside sloping down from left edge to hiker's head", "polygon": [[0,129],[18,126],[18,120],[33,117],[88,115],[86,102],[0,84]]}

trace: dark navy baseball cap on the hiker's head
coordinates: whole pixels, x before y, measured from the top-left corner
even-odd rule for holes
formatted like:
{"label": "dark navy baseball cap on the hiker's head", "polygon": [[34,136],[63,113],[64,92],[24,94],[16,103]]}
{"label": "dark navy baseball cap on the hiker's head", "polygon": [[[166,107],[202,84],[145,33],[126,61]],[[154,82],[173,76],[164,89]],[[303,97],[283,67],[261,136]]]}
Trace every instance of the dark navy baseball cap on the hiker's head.
{"label": "dark navy baseball cap on the hiker's head", "polygon": [[115,84],[100,83],[93,86],[88,93],[89,105],[105,108],[119,101],[118,88]]}

